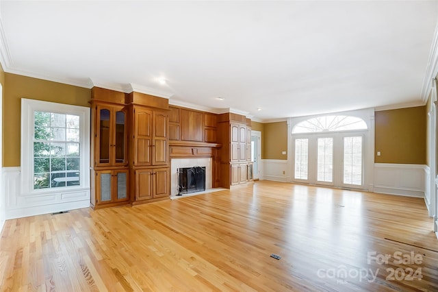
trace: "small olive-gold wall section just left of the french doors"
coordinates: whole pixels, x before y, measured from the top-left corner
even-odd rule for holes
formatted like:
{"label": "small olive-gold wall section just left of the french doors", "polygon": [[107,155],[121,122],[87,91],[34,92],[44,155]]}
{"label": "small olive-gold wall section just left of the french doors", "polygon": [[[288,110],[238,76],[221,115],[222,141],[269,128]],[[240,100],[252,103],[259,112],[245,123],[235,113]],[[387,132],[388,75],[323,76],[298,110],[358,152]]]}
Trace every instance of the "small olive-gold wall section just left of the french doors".
{"label": "small olive-gold wall section just left of the french doors", "polygon": [[[261,159],[287,160],[287,122],[263,124]],[[281,154],[286,151],[286,154]]]}

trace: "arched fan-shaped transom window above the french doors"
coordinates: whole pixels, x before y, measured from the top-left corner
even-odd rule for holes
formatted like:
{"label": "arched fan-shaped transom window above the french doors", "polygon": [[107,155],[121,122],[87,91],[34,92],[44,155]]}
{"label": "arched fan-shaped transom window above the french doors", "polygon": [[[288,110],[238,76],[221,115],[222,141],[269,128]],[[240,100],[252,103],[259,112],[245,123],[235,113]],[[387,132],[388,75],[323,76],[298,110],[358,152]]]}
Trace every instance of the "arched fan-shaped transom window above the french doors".
{"label": "arched fan-shaped transom window above the french doors", "polygon": [[363,119],[351,116],[324,116],[302,121],[294,127],[292,134],[366,130]]}

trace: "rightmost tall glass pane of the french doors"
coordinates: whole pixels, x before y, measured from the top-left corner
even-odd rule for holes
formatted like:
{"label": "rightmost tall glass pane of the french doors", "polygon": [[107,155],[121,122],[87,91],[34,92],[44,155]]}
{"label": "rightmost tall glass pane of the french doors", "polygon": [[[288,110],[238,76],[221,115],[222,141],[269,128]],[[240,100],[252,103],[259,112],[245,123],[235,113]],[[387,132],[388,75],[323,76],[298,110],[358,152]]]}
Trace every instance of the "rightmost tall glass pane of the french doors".
{"label": "rightmost tall glass pane of the french doors", "polygon": [[344,184],[362,185],[362,137],[344,138]]}

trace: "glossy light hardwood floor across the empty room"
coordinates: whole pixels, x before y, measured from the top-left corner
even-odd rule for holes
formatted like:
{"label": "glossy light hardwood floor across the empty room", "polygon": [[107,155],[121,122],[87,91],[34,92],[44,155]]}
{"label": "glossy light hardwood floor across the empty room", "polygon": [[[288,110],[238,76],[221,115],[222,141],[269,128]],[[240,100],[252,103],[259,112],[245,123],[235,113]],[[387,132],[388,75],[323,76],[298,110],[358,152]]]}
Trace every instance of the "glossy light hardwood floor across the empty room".
{"label": "glossy light hardwood floor across the empty room", "polygon": [[[438,291],[431,228],[420,198],[260,181],[135,207],[8,220],[0,287]],[[369,254],[391,258],[379,264]],[[399,254],[417,263],[397,263]]]}

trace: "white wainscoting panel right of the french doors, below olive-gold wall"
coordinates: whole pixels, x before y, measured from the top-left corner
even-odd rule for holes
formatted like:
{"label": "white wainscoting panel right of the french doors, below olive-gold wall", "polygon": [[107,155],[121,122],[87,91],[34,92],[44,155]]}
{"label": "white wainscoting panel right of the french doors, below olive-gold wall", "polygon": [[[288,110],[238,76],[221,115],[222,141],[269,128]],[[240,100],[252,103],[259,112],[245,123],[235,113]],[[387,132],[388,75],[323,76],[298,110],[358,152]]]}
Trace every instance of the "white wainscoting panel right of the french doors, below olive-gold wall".
{"label": "white wainscoting panel right of the french doors, below olive-gold wall", "polygon": [[374,164],[374,192],[424,197],[425,165]]}

